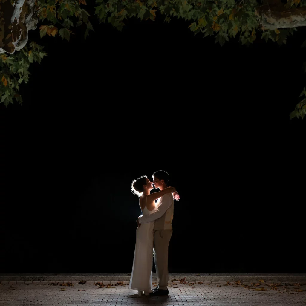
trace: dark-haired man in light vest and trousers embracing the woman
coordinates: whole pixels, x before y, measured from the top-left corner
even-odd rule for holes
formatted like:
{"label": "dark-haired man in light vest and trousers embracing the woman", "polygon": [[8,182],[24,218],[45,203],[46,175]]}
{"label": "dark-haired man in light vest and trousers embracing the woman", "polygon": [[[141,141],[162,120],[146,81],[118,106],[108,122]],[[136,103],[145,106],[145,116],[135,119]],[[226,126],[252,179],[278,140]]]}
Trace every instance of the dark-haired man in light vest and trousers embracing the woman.
{"label": "dark-haired man in light vest and trousers embracing the woman", "polygon": [[[163,190],[167,188],[169,174],[166,171],[157,171],[152,175],[155,188]],[[180,196],[174,193],[178,201]],[[172,193],[166,193],[157,200],[158,211],[151,215],[138,217],[138,226],[141,223],[154,221],[154,261],[158,287],[153,289],[150,296],[168,295],[168,246],[172,236],[172,219],[174,201]]]}

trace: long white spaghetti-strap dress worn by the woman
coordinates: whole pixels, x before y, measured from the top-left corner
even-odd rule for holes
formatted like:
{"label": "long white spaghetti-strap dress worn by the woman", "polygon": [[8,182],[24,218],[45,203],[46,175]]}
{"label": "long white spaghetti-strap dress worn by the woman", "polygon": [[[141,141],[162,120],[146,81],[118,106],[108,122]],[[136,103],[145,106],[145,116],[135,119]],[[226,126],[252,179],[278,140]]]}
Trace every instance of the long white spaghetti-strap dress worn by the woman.
{"label": "long white spaghetti-strap dress worn by the woman", "polygon": [[[158,203],[159,201],[152,211],[148,211],[146,198],[146,206],[142,214],[145,216],[157,211]],[[136,229],[136,245],[129,289],[138,290],[139,295],[142,291],[145,295],[152,292],[154,222],[141,223]]]}

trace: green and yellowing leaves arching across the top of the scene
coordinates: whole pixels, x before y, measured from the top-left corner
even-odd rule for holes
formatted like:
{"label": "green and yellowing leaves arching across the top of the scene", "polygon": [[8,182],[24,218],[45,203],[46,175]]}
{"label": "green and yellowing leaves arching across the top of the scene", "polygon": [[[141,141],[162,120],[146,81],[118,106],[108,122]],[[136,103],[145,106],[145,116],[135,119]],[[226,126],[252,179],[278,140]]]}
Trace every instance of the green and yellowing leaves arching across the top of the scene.
{"label": "green and yellowing leaves arching across the top of the scene", "polygon": [[[2,2],[8,0],[0,0]],[[21,1],[21,0],[20,0]],[[23,0],[24,3],[31,0]],[[259,1],[259,0],[258,0]],[[170,22],[172,17],[190,21],[188,28],[203,37],[214,35],[215,43],[223,46],[231,38],[239,37],[239,43],[250,45],[256,38],[271,40],[278,45],[286,44],[289,35],[297,27],[306,25],[301,21],[306,18],[306,0],[96,0],[95,15],[99,22],[109,22],[114,28],[122,31],[124,20],[130,17],[140,20],[155,20],[159,11]],[[11,5],[15,5],[11,0]],[[86,26],[84,38],[89,31],[94,31],[86,9],[86,0],[36,0],[33,16],[39,25],[40,37],[60,35],[69,41],[73,34],[71,28]],[[23,7],[24,8],[24,7]],[[306,20],[306,19],[305,19]],[[3,21],[3,14],[1,22]],[[0,27],[1,27],[0,23]],[[2,46],[4,40],[2,37]],[[306,41],[302,47],[306,46]],[[41,62],[46,52],[35,42],[28,43],[21,50],[11,54],[0,55],[1,67],[1,103],[7,106],[16,99],[22,104],[19,95],[19,84],[28,82],[30,64]],[[304,118],[306,114],[306,89],[300,97],[304,99],[297,104],[290,118]]]}

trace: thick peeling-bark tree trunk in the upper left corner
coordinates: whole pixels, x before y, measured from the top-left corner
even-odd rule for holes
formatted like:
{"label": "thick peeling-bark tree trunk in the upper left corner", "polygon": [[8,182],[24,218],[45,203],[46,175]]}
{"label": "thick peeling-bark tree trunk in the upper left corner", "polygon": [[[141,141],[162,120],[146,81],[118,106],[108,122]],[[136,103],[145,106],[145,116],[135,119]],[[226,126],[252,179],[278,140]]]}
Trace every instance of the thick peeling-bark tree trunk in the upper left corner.
{"label": "thick peeling-bark tree trunk in the upper left corner", "polygon": [[13,54],[28,42],[28,31],[35,29],[37,17],[33,16],[35,0],[0,0],[0,54]]}

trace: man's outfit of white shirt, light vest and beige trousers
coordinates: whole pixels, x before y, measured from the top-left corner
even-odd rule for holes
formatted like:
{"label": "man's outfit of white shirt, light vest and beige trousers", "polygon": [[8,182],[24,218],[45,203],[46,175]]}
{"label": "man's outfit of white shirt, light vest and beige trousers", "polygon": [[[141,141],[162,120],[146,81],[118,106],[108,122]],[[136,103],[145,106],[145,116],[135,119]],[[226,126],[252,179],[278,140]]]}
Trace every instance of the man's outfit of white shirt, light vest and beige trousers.
{"label": "man's outfit of white shirt, light vest and beige trousers", "polygon": [[172,193],[164,194],[157,201],[158,211],[138,219],[139,223],[154,221],[154,261],[158,288],[167,289],[168,246],[172,236],[174,201]]}

